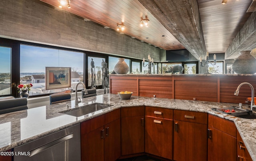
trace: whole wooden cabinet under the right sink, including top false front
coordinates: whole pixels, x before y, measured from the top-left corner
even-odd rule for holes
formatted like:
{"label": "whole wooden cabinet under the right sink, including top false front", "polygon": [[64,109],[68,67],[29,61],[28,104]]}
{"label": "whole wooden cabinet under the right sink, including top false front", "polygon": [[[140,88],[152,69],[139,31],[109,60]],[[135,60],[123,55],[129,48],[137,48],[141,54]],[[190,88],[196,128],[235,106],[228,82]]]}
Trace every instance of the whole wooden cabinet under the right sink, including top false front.
{"label": "whole wooden cabinet under the right sink, including top false front", "polygon": [[236,161],[236,126],[234,122],[208,116],[208,161]]}

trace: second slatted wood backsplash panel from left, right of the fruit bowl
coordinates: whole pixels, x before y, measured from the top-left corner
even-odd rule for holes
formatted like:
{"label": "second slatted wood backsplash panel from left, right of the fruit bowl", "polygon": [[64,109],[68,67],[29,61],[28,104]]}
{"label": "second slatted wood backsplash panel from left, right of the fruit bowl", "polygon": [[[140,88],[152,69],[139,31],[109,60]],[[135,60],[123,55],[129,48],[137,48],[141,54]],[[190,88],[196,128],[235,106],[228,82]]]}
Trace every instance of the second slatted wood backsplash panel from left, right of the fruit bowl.
{"label": "second slatted wood backsplash panel from left, right of the fruit bowl", "polygon": [[172,98],[172,77],[140,77],[139,96]]}

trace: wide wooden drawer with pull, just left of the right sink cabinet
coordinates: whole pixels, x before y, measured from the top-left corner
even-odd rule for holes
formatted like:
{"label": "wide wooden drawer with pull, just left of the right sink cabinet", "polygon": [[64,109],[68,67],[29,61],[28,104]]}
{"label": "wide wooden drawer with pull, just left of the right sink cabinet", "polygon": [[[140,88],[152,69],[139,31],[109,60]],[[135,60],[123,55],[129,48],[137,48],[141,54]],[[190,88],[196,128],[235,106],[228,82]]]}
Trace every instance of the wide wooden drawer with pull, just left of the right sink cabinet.
{"label": "wide wooden drawer with pull, just left of the right sink cabinet", "polygon": [[174,110],[174,120],[207,124],[208,114],[203,112]]}

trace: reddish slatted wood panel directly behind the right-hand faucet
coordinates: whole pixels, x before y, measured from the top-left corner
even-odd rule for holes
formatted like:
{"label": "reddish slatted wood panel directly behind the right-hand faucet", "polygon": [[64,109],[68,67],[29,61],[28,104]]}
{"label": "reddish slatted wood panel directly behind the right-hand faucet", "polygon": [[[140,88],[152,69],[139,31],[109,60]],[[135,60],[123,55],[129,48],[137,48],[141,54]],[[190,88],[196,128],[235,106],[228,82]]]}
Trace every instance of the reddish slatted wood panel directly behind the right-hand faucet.
{"label": "reddish slatted wood panel directly behind the right-hand faucet", "polygon": [[[256,89],[256,76],[237,76],[237,77],[220,77],[220,102],[228,103],[245,103],[246,98],[251,97],[252,92],[250,86],[244,84],[239,90],[238,96],[234,95],[236,88],[242,82],[252,84],[254,90]],[[254,95],[255,95],[254,91]]]}

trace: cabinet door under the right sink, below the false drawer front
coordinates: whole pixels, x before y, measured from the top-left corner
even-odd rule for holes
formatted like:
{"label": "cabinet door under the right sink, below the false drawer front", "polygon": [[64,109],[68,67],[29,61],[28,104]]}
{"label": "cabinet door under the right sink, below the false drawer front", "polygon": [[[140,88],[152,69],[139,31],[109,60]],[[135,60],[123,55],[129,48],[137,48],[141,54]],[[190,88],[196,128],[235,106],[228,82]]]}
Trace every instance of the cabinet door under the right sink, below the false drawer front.
{"label": "cabinet door under the right sink, below the false drawer front", "polygon": [[208,127],[208,161],[236,161],[236,137]]}

